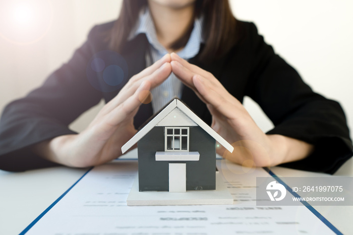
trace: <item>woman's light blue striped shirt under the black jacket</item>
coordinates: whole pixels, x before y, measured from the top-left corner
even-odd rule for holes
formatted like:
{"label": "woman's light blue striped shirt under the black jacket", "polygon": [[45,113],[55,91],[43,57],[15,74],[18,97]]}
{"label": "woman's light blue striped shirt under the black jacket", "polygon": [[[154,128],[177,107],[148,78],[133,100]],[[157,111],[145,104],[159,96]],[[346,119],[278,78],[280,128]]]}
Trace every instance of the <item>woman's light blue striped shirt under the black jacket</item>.
{"label": "woman's light blue striped shirt under the black jacket", "polygon": [[[203,42],[202,38],[202,18],[196,19],[194,22],[194,28],[191,32],[190,38],[186,46],[178,52],[178,55],[185,60],[189,60],[199,53],[200,43]],[[132,40],[138,34],[145,33],[150,43],[150,54],[146,53],[146,66],[152,65],[158,61],[167,50],[159,43],[157,39],[156,29],[153,24],[153,20],[148,8],[143,9],[139,14],[139,19],[132,29],[128,40]],[[181,98],[183,92],[183,83],[173,74],[158,87],[151,90],[152,93],[152,108],[153,113],[156,113],[165,104],[167,104],[173,97],[177,96]]]}

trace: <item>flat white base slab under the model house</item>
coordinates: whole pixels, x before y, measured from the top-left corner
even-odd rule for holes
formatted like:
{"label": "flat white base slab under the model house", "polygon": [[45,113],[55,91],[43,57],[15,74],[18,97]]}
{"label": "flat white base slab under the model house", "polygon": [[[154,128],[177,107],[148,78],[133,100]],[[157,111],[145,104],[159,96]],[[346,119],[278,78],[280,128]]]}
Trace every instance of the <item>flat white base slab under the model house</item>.
{"label": "flat white base slab under the model house", "polygon": [[137,177],[131,188],[127,204],[128,206],[231,205],[233,197],[217,171],[216,190],[191,190],[182,193],[139,192]]}

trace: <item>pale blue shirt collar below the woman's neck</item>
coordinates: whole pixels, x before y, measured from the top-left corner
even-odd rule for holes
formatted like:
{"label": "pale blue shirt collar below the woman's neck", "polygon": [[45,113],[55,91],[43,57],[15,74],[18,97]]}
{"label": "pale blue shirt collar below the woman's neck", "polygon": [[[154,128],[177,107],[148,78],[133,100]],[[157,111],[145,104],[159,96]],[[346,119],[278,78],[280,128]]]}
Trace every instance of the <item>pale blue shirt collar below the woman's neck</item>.
{"label": "pale blue shirt collar below the woman's neck", "polygon": [[[185,47],[177,52],[182,58],[188,59],[194,57],[200,50],[200,43],[204,42],[202,37],[202,24],[203,17],[195,19],[194,28],[190,34],[189,41]],[[134,39],[138,34],[146,34],[148,42],[154,47],[160,54],[166,54],[167,50],[159,43],[157,39],[156,29],[150,14],[149,8],[142,9],[139,13],[139,19],[135,27],[130,32],[128,41]]]}

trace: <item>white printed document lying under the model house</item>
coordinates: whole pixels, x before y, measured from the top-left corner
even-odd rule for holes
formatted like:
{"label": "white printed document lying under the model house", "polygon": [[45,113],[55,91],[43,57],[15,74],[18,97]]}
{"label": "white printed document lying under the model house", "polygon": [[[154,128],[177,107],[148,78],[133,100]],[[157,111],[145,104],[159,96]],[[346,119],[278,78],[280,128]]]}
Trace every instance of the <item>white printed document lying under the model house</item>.
{"label": "white printed document lying under the model house", "polygon": [[94,167],[25,234],[335,234],[305,206],[256,206],[264,169],[224,159],[217,168],[233,205],[127,206],[137,160]]}

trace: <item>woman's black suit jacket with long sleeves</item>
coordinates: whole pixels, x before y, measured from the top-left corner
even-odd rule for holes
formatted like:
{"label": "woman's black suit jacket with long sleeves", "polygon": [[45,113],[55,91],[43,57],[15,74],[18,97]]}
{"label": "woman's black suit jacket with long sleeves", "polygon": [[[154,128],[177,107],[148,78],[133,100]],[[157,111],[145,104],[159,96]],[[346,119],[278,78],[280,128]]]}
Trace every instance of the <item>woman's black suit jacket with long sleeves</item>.
{"label": "woman's black suit jacket with long sleeves", "polygon": [[[102,98],[106,102],[112,99],[129,78],[145,68],[148,41],[140,34],[124,46],[121,54],[128,65],[128,76],[115,91],[101,92],[89,83],[87,66],[95,53],[108,49],[104,38],[112,26],[113,22],[95,26],[67,64],[51,74],[41,87],[4,109],[0,121],[1,169],[19,171],[55,165],[31,153],[29,147],[56,136],[73,134],[68,129],[71,122]],[[220,59],[202,63],[197,55],[190,62],[211,72],[240,101],[245,95],[255,100],[275,125],[269,134],[315,145],[311,156],[283,166],[336,171],[352,155],[340,105],[314,93],[296,70],[264,42],[253,23],[239,21],[237,27],[241,29],[238,30],[241,40]],[[94,79],[97,83],[103,82],[100,77]],[[206,105],[191,89],[184,87],[182,99],[200,118],[211,123]],[[150,115],[151,104],[143,104],[134,125],[139,127]]]}

